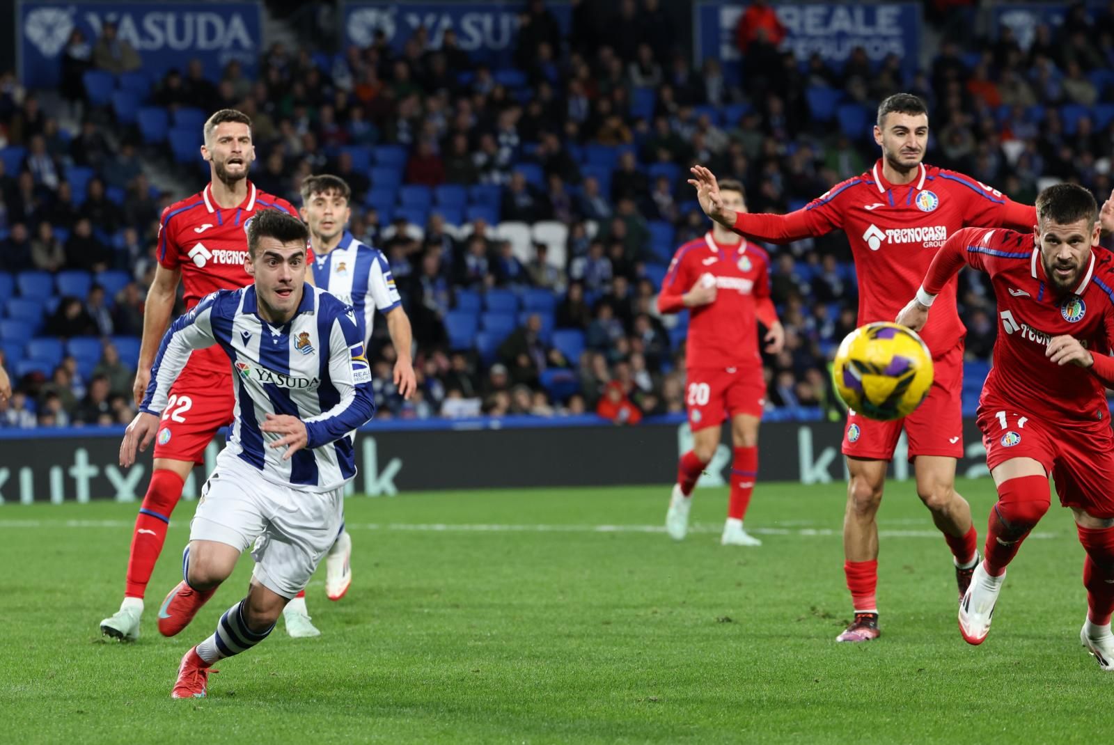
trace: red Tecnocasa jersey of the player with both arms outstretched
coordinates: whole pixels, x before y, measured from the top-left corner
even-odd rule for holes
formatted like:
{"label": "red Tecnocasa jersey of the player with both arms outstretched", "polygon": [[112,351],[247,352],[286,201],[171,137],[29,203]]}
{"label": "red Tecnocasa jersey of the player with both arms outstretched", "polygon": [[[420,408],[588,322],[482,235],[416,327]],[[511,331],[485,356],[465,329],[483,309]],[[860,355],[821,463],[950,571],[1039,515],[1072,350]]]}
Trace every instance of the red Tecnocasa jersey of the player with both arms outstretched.
{"label": "red Tecnocasa jersey of the player with both arms outstretched", "polygon": [[[763,235],[771,216],[740,214],[735,231],[759,241],[784,242],[807,235],[847,233],[859,275],[859,323],[892,321],[920,286],[932,256],[956,231],[966,226],[999,227],[1008,215],[1020,215],[1028,228],[1036,210],[1012,202],[968,176],[935,166],[918,166],[909,184],[893,185],[882,175],[882,161],[833,186],[803,209],[782,219],[801,235]],[[939,306],[922,332],[934,356],[959,343],[966,329],[956,311],[956,282],[941,293]]]}

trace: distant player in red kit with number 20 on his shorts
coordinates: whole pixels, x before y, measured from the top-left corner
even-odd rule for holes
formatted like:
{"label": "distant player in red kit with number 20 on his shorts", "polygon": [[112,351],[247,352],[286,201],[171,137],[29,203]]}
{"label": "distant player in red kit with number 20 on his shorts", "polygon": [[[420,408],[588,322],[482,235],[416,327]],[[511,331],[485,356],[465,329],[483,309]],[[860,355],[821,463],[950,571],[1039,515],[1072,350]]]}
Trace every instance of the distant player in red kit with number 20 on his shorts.
{"label": "distant player in red kit with number 20 on his shorts", "polygon": [[[724,180],[726,208],[746,209],[743,185]],[[677,249],[657,296],[662,313],[688,308],[685,342],[685,403],[693,449],[681,457],[665,528],[676,540],[688,530],[693,487],[715,449],[723,421],[731,418],[734,460],[731,497],[723,527],[724,546],[761,546],[743,529],[759,470],[759,422],[765,405],[765,379],[759,353],[758,322],[768,329],[766,351],[781,351],[785,336],[770,300],[770,257],[765,251],[713,223],[703,237]]]}

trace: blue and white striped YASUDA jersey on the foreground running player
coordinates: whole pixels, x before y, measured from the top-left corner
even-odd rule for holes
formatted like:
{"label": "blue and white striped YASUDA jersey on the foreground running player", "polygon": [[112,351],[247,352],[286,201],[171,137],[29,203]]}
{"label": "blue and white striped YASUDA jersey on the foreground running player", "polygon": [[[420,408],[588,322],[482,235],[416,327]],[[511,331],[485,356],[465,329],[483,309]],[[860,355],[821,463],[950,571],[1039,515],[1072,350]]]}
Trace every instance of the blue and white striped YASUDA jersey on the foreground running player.
{"label": "blue and white striped YASUDA jersey on the foreground running player", "polygon": [[[263,478],[306,491],[330,491],[355,476],[345,435],[371,419],[375,404],[351,306],[306,284],[294,317],[275,327],[257,314],[255,285],[207,295],[163,337],[140,410],[160,415],[189,354],[214,344],[228,355],[236,394],[221,458],[240,458]],[[268,413],[304,421],[307,447],[283,460],[284,449],[267,447],[281,435],[260,430]]]}

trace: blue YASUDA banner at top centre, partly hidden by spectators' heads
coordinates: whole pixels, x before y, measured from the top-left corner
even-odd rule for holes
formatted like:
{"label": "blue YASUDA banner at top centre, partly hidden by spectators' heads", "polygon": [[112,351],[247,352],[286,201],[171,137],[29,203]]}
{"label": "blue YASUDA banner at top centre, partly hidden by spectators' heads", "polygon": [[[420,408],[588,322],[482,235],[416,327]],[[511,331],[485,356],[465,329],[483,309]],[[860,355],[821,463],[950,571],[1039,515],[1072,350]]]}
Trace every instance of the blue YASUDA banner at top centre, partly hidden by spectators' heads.
{"label": "blue YASUDA banner at top centre, partly hidden by spectators' heads", "polygon": [[[561,33],[571,21],[568,2],[547,2]],[[429,43],[441,46],[446,29],[457,33],[458,46],[495,68],[509,67],[518,38],[518,16],[526,2],[348,2],[344,4],[344,46],[369,47],[382,30],[395,50],[420,27],[429,32]],[[555,50],[556,51],[556,50]]]}

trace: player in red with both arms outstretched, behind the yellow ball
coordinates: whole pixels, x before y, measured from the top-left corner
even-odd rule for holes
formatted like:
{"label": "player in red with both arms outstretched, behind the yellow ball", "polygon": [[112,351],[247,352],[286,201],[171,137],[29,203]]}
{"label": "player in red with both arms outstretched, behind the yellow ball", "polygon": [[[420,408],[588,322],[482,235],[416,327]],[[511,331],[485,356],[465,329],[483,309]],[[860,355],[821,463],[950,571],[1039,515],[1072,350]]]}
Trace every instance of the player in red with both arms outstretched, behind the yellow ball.
{"label": "player in red with both arms outstretched, behind the yellow ball", "polygon": [[[832,231],[847,233],[859,274],[859,323],[890,321],[919,286],[945,239],[967,225],[1029,229],[1033,207],[955,171],[921,163],[928,145],[928,111],[909,94],[890,96],[878,107],[874,141],[882,157],[788,215],[749,214],[723,203],[715,176],[702,166],[690,180],[710,217],[753,241],[790,243]],[[854,620],[838,641],[866,641],[880,635],[874,589],[878,584],[878,527],[886,469],[901,430],[909,438],[917,493],[932,513],[951,550],[959,594],[977,563],[970,506],[956,493],[956,459],[964,453],[959,394],[964,334],[956,310],[956,283],[944,288],[940,312],[925,331],[936,382],[928,399],[905,420],[879,422],[849,412],[843,438],[850,481],[843,518],[843,553]]]}

